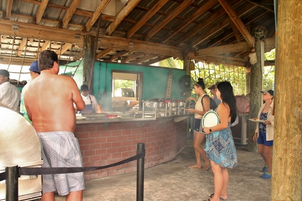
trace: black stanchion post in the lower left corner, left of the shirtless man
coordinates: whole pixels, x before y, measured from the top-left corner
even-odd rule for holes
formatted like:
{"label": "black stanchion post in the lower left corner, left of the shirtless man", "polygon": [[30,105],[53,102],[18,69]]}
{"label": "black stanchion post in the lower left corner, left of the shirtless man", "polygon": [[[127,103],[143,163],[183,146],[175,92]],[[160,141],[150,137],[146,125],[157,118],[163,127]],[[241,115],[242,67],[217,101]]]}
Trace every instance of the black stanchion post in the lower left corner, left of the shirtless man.
{"label": "black stanchion post in the lower left corner, left of the shirtless man", "polygon": [[8,165],[6,171],[6,200],[18,201],[18,165]]}

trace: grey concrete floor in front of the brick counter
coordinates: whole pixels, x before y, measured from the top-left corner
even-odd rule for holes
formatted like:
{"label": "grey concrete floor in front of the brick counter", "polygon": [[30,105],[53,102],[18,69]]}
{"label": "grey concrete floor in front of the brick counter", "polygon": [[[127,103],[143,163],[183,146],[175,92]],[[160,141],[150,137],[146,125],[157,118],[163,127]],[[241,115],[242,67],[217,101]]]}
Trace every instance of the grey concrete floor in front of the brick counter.
{"label": "grey concrete floor in front of the brick counter", "polygon": [[[262,179],[258,153],[236,146],[238,166],[229,169],[228,200],[270,200],[270,179]],[[204,200],[214,192],[212,170],[189,169],[195,162],[192,138],[173,160],[144,170],[144,200]],[[85,181],[84,200],[136,200],[136,172]],[[65,200],[56,195],[57,201]]]}

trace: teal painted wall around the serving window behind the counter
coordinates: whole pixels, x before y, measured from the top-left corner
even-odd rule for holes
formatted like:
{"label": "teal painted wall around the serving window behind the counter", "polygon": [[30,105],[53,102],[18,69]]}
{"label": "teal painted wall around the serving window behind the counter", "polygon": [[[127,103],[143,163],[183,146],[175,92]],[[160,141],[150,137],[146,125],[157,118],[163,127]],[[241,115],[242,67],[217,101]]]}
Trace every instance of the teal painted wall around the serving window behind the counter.
{"label": "teal painted wall around the serving window behind the counter", "polygon": [[[82,85],[83,77],[83,62],[77,61],[68,64],[65,70],[65,66],[60,66],[61,73],[74,73],[76,66],[78,66],[77,72],[74,73],[73,79],[77,82],[78,87]],[[73,66],[73,67],[70,67]],[[107,72],[106,72],[107,67]],[[171,98],[183,98],[181,96],[181,90],[178,81],[181,76],[185,75],[185,71],[175,68],[166,67],[149,67],[149,66],[138,66],[133,64],[118,64],[118,63],[104,63],[96,62],[94,68],[94,83],[93,83],[93,95],[95,95],[100,103],[102,101],[102,94],[105,90],[107,91],[107,97],[111,97],[112,83],[111,83],[111,70],[125,70],[125,71],[135,71],[143,73],[143,87],[142,87],[142,99],[150,98],[164,98],[166,93],[166,85],[169,70],[172,71],[172,88],[171,88]],[[100,79],[99,79],[100,77]],[[106,81],[105,81],[106,80]]]}

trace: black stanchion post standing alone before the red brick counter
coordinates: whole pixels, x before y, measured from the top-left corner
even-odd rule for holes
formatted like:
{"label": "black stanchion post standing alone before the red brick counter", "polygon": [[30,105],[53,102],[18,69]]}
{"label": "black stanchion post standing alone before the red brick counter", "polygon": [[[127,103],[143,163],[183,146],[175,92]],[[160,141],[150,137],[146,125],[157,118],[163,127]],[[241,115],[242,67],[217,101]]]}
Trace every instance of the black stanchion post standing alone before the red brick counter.
{"label": "black stanchion post standing alone before the red brick counter", "polygon": [[[136,154],[145,152],[144,143],[137,144]],[[143,201],[144,157],[137,160],[136,201]]]}

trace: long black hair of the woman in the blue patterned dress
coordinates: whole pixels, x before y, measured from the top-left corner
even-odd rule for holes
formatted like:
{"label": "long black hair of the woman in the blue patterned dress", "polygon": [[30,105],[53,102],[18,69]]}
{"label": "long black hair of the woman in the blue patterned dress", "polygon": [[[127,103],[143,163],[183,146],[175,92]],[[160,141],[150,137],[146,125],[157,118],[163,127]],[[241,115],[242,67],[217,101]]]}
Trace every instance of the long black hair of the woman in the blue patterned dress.
{"label": "long black hair of the woman in the blue patterned dress", "polygon": [[228,81],[220,82],[217,85],[220,92],[222,103],[228,104],[230,108],[231,123],[234,123],[237,117],[236,98],[233,92],[233,86]]}

